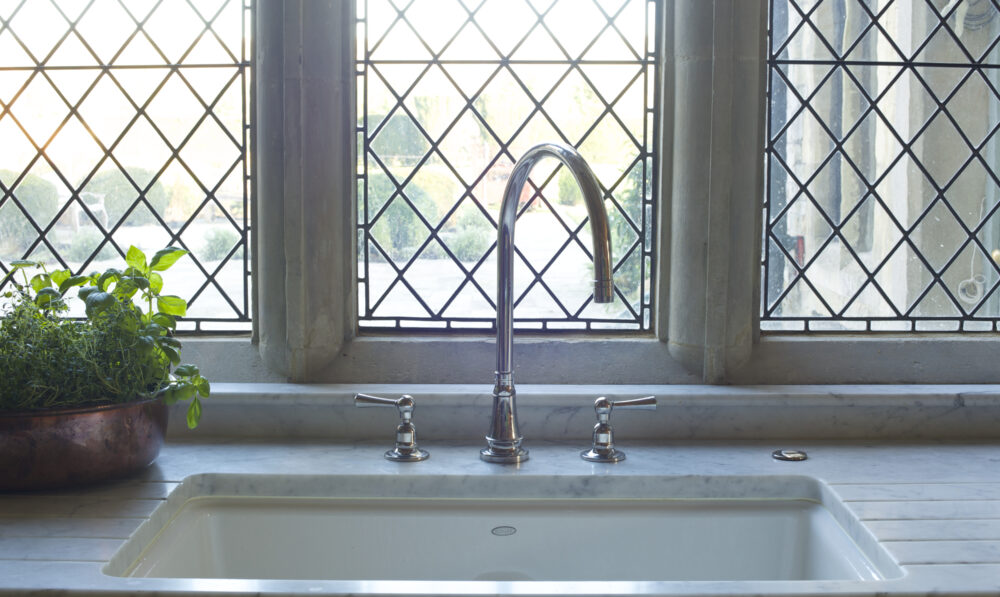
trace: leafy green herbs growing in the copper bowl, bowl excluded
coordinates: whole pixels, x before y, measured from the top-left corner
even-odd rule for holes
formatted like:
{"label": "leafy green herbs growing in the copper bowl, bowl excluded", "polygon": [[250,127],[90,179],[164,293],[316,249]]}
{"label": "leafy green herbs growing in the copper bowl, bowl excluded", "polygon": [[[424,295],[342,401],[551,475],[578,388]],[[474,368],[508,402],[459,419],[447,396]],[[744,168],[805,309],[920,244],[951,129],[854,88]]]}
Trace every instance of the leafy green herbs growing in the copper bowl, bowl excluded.
{"label": "leafy green herbs growing in the copper bowl, bowl excluded", "polygon": [[[158,273],[186,254],[167,247],[147,262],[142,251],[130,247],[124,270],[90,275],[50,273],[41,263],[13,262],[8,277],[14,289],[5,295],[13,303],[0,317],[0,411],[163,395],[168,404],[190,400],[188,426],[195,427],[199,397],[207,397],[211,388],[197,367],[180,364],[181,344],[173,332],[187,303],[161,294]],[[84,321],[60,315],[68,310],[67,293],[76,287]]]}

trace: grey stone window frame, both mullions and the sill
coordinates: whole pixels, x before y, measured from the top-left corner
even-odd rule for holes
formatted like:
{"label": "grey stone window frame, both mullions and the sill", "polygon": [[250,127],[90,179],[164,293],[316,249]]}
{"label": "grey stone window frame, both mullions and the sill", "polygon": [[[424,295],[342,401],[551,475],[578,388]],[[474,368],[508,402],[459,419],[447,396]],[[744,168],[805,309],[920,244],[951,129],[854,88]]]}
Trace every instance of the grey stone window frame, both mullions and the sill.
{"label": "grey stone window frame, both mullions and the sill", "polygon": [[[996,377],[985,335],[761,337],[767,10],[768,0],[664,0],[654,330],[518,332],[518,383]],[[492,336],[357,333],[353,0],[257,0],[255,22],[255,331],[186,350],[228,361],[226,381],[489,384]]]}

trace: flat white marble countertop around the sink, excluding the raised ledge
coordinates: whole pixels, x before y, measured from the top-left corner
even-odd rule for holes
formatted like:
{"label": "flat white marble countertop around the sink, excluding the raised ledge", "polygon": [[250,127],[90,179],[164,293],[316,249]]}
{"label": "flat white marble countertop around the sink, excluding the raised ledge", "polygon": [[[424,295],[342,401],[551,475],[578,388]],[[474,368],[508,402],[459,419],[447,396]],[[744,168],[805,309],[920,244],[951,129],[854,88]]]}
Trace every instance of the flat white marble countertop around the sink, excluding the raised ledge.
{"label": "flat white marble countertop around the sink, excluding the raised ledge", "polygon": [[[828,484],[903,567],[899,579],[789,583],[773,594],[1000,594],[1000,442],[887,441],[630,441],[628,459],[588,463],[581,442],[531,441],[518,467],[484,463],[480,446],[433,441],[431,458],[397,464],[382,458],[386,442],[310,439],[172,439],[139,477],[73,491],[0,495],[0,593],[79,595],[256,594],[238,584],[218,593],[188,591],[172,579],[106,576],[102,568],[126,539],[186,477],[199,473],[282,475],[448,475],[463,483],[498,476],[556,478],[635,475],[805,475]],[[779,462],[774,449],[801,449],[804,462]],[[667,583],[666,594],[762,594],[753,583]],[[260,588],[260,587],[257,587]],[[305,590],[301,594],[323,594]],[[267,594],[296,594],[273,585]],[[255,589],[256,590],[256,589]],[[521,589],[519,594],[524,593]],[[556,591],[558,592],[558,591]]]}

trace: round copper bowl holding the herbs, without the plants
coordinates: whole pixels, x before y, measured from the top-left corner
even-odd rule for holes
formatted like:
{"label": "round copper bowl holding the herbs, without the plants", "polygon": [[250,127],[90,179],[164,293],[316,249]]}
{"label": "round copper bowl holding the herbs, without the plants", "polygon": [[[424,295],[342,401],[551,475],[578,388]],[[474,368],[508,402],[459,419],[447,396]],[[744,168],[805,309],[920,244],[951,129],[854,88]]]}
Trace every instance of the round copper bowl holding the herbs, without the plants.
{"label": "round copper bowl holding the herbs, without the plants", "polygon": [[167,430],[162,399],[0,412],[0,490],[85,485],[152,464]]}

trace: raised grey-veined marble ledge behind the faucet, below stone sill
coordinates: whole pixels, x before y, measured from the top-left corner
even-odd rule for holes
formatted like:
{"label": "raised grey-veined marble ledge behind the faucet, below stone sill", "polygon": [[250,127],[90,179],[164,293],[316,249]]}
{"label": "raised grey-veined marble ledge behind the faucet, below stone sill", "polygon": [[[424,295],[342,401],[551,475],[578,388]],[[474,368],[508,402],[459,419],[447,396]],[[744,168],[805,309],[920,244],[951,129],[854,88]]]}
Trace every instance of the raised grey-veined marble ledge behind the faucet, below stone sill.
{"label": "raised grey-veined marble ledge behind the faucet, below stone sill", "polygon": [[[391,409],[356,409],[356,392],[416,401],[426,437],[478,441],[492,386],[216,384],[197,432],[173,417],[178,437],[252,435],[357,440],[391,433]],[[593,427],[594,399],[655,395],[656,411],[619,411],[615,427],[638,439],[1000,438],[1000,386],[518,386],[526,437],[575,439]],[[177,414],[184,408],[176,407]]]}

